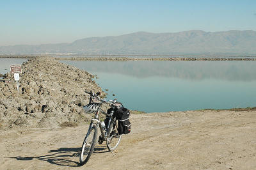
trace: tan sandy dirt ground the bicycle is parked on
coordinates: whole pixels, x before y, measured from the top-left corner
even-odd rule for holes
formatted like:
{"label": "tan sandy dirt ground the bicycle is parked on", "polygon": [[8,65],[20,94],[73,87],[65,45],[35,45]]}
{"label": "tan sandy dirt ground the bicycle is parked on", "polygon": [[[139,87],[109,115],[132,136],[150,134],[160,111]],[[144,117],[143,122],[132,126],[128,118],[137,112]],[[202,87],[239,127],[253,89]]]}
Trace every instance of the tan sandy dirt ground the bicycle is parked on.
{"label": "tan sandy dirt ground the bicycle is parked on", "polygon": [[256,169],[256,111],[133,114],[115,156],[97,144],[79,166],[88,125],[0,131],[0,169]]}

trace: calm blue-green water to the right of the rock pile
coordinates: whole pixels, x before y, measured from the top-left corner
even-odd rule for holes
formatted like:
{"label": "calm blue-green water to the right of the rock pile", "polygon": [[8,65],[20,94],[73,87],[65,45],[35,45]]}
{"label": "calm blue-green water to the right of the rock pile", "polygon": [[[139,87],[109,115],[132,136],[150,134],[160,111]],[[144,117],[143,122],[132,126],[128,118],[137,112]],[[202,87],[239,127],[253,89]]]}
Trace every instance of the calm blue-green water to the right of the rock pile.
{"label": "calm blue-green water to the right of the rock pile", "polygon": [[[145,112],[256,106],[256,61],[61,61]],[[113,97],[112,94],[116,96]]]}

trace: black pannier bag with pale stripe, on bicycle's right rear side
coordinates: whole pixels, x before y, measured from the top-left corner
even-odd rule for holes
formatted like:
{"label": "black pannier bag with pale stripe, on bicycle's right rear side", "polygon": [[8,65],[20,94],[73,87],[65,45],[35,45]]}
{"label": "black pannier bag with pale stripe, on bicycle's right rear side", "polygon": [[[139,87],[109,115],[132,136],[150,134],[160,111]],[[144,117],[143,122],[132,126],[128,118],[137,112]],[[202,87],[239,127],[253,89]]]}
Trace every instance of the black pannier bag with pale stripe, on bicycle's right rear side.
{"label": "black pannier bag with pale stripe, on bicycle's right rear side", "polygon": [[116,110],[116,120],[118,120],[118,134],[129,134],[131,132],[131,122],[129,121],[130,112],[121,107]]}

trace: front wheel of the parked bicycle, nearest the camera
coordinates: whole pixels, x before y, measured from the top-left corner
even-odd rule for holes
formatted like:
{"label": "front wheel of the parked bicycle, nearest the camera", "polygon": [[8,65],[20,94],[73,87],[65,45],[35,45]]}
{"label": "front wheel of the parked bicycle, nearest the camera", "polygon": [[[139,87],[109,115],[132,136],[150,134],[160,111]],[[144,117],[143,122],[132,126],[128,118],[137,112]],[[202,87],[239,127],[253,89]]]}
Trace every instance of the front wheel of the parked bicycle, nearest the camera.
{"label": "front wheel of the parked bicycle, nearest the camera", "polygon": [[93,125],[89,132],[86,134],[84,138],[83,146],[80,153],[80,164],[83,166],[88,162],[89,158],[91,157],[94,146],[97,140],[98,129],[96,125]]}

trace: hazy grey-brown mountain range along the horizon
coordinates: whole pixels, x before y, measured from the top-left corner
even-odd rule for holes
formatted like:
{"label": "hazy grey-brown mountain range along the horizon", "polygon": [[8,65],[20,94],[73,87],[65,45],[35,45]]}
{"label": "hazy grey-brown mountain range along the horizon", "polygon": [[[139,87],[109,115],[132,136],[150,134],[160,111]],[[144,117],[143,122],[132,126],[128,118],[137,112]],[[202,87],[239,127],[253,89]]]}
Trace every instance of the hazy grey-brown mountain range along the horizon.
{"label": "hazy grey-brown mountain range along the horizon", "polygon": [[138,32],[72,43],[1,46],[0,54],[74,55],[256,55],[256,31]]}

